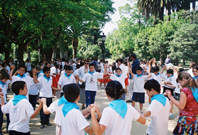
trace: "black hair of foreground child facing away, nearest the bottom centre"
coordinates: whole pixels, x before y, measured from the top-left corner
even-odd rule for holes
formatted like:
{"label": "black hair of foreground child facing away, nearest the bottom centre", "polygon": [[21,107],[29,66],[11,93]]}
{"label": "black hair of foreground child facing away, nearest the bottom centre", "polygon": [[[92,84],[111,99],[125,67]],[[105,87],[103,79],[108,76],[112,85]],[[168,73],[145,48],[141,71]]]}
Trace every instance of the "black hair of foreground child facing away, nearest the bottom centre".
{"label": "black hair of foreground child facing away, nearest the bottom centre", "polygon": [[108,82],[105,91],[108,96],[114,99],[120,99],[121,96],[126,93],[122,87],[122,84],[118,81],[110,81]]}

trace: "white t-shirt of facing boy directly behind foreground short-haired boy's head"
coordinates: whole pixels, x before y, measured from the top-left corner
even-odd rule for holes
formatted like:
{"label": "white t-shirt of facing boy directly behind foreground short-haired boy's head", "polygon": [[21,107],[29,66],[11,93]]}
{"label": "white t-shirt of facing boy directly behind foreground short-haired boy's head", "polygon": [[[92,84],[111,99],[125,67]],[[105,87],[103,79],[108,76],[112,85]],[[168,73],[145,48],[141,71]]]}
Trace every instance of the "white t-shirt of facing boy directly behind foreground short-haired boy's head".
{"label": "white t-shirt of facing boy directly behind foreground short-haired boy's head", "polygon": [[73,74],[71,74],[69,79],[68,79],[68,77],[65,76],[65,74],[61,75],[61,77],[59,78],[59,81],[58,81],[58,85],[61,85],[61,92],[63,92],[63,87],[65,85],[71,84],[71,83],[76,83],[76,79]]}

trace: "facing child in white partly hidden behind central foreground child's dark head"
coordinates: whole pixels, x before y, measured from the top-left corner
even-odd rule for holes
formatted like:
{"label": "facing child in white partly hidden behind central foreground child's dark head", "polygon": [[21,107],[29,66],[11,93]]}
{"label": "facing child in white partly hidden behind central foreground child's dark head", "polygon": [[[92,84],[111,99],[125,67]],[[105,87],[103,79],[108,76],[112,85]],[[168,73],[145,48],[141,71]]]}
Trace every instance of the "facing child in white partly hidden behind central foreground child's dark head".
{"label": "facing child in white partly hidden behind central foreground child's dark head", "polygon": [[[125,91],[126,91],[126,87],[125,87],[126,78],[127,78],[127,74],[126,73],[122,74],[122,70],[120,68],[116,68],[116,74],[111,74],[110,77],[111,80],[120,82],[122,84],[122,87],[125,89]],[[122,95],[121,99],[125,100],[125,93]]]}

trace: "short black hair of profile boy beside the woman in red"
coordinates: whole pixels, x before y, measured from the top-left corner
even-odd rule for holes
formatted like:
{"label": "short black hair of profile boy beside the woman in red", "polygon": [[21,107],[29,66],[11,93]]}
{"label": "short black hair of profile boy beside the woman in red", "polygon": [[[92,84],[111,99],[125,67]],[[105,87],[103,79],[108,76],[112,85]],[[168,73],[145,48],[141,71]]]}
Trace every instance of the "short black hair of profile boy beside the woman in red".
{"label": "short black hair of profile boy beside the woman in red", "polygon": [[151,91],[151,89],[154,89],[155,91],[157,91],[158,93],[160,93],[160,84],[155,79],[151,79],[151,80],[148,80],[144,84],[144,89],[146,89],[148,91]]}

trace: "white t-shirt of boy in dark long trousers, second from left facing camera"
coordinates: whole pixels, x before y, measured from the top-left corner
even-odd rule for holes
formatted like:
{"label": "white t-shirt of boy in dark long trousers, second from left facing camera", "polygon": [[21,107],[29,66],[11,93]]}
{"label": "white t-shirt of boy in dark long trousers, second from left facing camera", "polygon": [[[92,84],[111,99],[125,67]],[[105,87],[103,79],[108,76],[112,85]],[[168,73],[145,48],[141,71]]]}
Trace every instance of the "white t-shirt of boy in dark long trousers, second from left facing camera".
{"label": "white t-shirt of boy in dark long trousers, second from left facing camera", "polygon": [[52,77],[50,76],[49,81],[44,78],[44,76],[41,76],[38,78],[38,81],[41,85],[39,97],[46,97],[51,98],[52,97]]}

